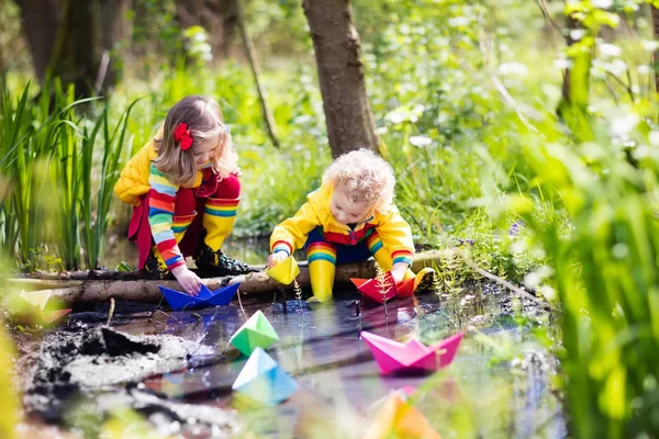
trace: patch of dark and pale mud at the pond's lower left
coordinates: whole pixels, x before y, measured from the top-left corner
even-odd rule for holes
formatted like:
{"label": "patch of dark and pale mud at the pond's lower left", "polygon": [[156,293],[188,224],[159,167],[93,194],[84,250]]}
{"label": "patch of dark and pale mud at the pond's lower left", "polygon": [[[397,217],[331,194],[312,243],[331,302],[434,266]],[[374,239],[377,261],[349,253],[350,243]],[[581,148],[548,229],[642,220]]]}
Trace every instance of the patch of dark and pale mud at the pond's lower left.
{"label": "patch of dark and pale mud at the pond's lower left", "polygon": [[176,336],[131,336],[104,326],[51,333],[42,341],[25,408],[62,423],[65,412],[80,402],[99,420],[118,407],[131,407],[168,434],[193,425],[222,436],[236,428],[234,413],[169,402],[137,385],[147,376],[180,369],[192,352],[203,354],[205,349]]}

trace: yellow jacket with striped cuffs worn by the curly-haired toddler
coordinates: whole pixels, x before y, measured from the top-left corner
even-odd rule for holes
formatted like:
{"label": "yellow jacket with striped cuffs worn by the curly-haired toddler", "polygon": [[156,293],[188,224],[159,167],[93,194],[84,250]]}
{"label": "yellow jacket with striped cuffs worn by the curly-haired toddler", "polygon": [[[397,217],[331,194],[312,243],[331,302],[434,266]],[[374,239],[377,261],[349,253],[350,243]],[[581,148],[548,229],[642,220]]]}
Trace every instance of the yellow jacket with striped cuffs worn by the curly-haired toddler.
{"label": "yellow jacket with striped cuffs worn by the curly-haired toddler", "polygon": [[[373,212],[372,216],[356,225],[354,228],[338,223],[330,210],[330,202],[334,188],[323,184],[320,189],[311,192],[308,202],[300,207],[298,213],[286,219],[272,230],[270,237],[270,251],[286,251],[291,255],[294,249],[302,248],[306,241],[306,235],[314,228],[323,227],[323,236],[327,243],[342,245],[356,245],[367,239],[371,252],[384,247],[391,255],[393,263],[405,262],[412,264],[414,256],[414,243],[410,225],[402,218],[396,206],[392,205],[387,212]],[[369,241],[373,229],[378,233],[380,240]]]}

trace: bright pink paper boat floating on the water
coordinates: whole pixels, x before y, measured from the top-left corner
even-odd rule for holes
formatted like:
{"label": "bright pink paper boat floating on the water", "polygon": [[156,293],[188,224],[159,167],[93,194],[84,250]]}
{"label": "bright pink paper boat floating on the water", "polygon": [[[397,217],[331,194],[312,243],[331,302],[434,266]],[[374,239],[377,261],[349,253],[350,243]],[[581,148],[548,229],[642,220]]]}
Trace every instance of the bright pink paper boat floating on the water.
{"label": "bright pink paper boat floating on the water", "polygon": [[390,373],[428,373],[454,360],[463,334],[456,334],[438,344],[425,346],[411,340],[401,344],[371,333],[361,331],[383,375]]}

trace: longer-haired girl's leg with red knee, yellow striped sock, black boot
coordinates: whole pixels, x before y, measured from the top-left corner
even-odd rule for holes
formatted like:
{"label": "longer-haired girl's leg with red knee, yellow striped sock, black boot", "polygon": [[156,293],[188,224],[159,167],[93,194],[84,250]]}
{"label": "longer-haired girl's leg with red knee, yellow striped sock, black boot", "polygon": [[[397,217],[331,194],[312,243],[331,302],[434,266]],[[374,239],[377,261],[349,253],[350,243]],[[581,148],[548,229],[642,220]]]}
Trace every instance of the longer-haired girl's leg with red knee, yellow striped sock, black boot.
{"label": "longer-haired girl's leg with red knee, yellow striped sock, black boot", "polygon": [[202,227],[205,232],[200,244],[197,263],[217,275],[239,274],[248,271],[247,264],[228,258],[221,249],[231,235],[241,202],[241,181],[228,176],[217,183],[215,192],[205,199]]}

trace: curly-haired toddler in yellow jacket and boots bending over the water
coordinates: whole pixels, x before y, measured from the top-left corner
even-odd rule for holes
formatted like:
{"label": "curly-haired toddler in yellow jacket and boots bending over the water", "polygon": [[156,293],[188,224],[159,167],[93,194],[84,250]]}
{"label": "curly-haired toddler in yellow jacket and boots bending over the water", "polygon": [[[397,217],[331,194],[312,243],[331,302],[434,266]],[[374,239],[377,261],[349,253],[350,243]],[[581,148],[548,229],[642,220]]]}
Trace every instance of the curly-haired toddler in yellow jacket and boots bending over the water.
{"label": "curly-haired toddler in yellow jacket and boots bending over the water", "polygon": [[[412,232],[393,205],[394,185],[391,166],[373,151],[359,149],[338,157],[295,216],[275,227],[268,266],[304,246],[311,289],[321,302],[332,296],[337,263],[372,255],[396,283],[413,278]],[[415,283],[425,289],[433,277],[434,270],[424,269]]]}

